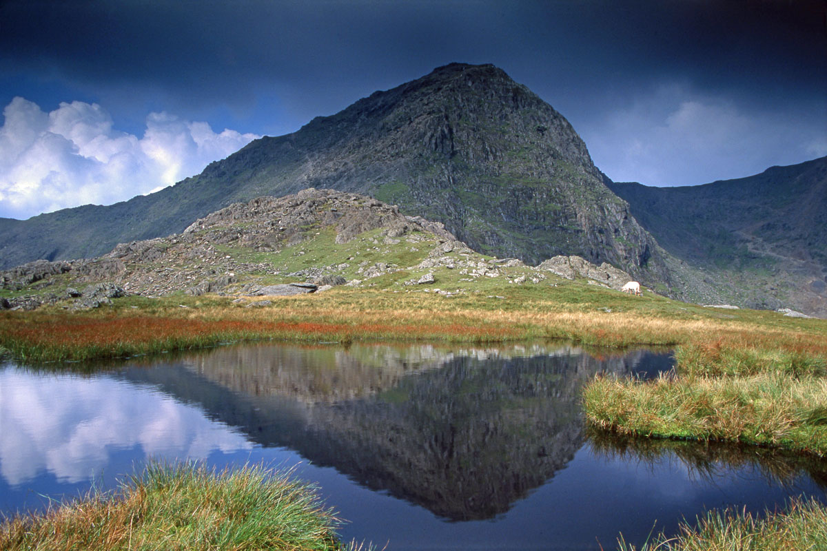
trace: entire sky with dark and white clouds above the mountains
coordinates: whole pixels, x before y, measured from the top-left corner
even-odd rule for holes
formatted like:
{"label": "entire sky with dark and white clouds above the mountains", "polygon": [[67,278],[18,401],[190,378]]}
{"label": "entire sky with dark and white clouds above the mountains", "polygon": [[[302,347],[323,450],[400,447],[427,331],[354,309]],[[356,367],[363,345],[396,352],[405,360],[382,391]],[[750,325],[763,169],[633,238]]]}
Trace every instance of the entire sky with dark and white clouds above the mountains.
{"label": "entire sky with dark and white clouds above the mountains", "polygon": [[526,84],[615,181],[827,154],[821,0],[5,0],[0,216],[151,192],[452,61]]}

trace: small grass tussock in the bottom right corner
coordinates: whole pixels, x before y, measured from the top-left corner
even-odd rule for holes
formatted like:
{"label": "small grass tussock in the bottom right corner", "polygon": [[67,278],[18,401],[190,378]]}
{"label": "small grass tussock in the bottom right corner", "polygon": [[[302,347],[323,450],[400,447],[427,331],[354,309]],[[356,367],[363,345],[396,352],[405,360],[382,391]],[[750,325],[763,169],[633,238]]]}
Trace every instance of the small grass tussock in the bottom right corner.
{"label": "small grass tussock in the bottom right corner", "polygon": [[663,534],[639,549],[620,536],[619,551],[820,551],[827,549],[827,508],[815,500],[793,500],[786,511],[762,518],[727,509],[681,524],[674,537]]}

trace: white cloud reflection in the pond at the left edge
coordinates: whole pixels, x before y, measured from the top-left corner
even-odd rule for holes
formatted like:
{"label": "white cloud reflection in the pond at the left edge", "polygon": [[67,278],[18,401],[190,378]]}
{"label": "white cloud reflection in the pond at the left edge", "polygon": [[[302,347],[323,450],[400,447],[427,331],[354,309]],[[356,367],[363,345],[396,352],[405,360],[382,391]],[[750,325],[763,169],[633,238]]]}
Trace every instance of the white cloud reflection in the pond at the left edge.
{"label": "white cloud reflection in the pond at the left edge", "polygon": [[43,470],[80,482],[110,449],[140,446],[159,458],[206,458],[252,444],[202,411],[112,378],[0,371],[0,475],[12,486]]}

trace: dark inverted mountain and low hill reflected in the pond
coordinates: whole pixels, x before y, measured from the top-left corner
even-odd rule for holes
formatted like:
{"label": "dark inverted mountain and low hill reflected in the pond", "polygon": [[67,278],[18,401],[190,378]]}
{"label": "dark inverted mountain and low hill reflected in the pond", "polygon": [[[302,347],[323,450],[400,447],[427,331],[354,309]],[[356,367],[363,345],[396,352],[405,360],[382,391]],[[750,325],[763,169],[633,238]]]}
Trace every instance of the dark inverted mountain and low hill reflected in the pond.
{"label": "dark inverted mountain and low hill reflected in the pond", "polygon": [[508,511],[565,467],[583,442],[581,385],[629,373],[643,354],[526,352],[238,347],[127,377],[199,402],[265,446],[471,520]]}

